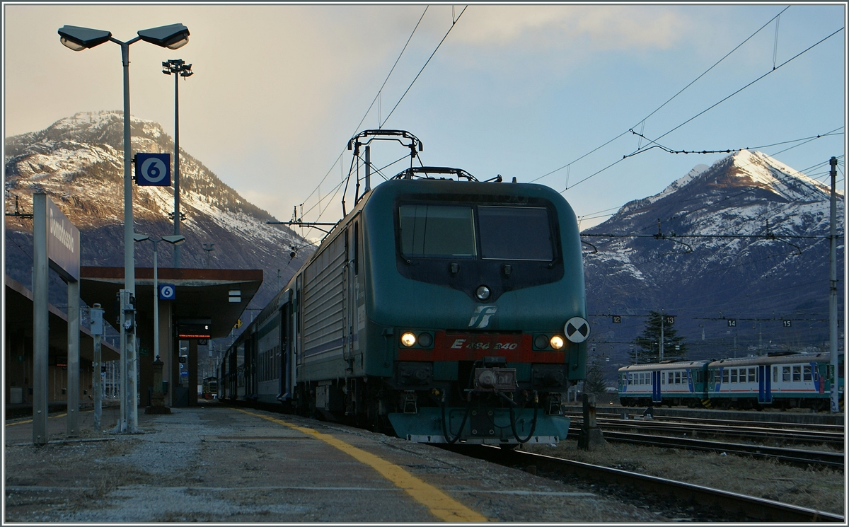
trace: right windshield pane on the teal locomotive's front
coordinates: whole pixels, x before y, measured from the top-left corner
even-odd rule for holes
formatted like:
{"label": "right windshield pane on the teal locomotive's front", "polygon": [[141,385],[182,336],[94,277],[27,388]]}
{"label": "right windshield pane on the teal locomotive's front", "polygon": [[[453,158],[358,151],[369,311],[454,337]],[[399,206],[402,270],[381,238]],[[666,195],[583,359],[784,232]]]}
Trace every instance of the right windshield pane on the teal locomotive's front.
{"label": "right windshield pane on the teal locomotive's front", "polygon": [[548,210],[541,207],[479,206],[481,258],[486,260],[554,259]]}

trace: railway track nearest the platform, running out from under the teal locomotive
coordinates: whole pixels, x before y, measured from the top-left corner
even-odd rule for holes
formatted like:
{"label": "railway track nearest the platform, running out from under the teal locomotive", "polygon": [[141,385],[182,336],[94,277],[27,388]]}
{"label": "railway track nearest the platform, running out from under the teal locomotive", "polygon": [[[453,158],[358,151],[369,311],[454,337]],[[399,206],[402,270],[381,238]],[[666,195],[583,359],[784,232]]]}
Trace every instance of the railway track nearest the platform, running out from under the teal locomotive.
{"label": "railway track nearest the platform, running out from under the teal locomotive", "polygon": [[739,520],[796,522],[840,522],[843,516],[825,513],[806,507],[796,507],[787,503],[775,502],[754,496],[720,491],[700,485],[692,485],[663,479],[645,474],[637,474],[618,468],[599,467],[559,457],[543,456],[525,451],[505,451],[497,447],[481,446],[466,448],[462,453],[491,463],[499,463],[514,468],[529,470],[531,467],[544,477],[576,477],[593,480],[607,485],[626,485],[638,489],[640,496],[674,497],[684,502],[692,502],[701,507],[712,507],[737,517]]}

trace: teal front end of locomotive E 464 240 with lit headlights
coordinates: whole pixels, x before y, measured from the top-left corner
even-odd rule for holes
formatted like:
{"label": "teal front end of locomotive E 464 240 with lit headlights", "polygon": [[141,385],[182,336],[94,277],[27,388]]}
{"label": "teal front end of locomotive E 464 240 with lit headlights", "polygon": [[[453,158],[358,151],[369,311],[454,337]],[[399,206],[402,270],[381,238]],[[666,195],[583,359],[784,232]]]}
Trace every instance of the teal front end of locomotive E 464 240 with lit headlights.
{"label": "teal front end of locomotive E 464 240 with lit headlights", "polygon": [[561,403],[583,378],[589,331],[565,199],[541,185],[400,179],[364,201],[348,390],[367,420],[419,442],[564,439]]}

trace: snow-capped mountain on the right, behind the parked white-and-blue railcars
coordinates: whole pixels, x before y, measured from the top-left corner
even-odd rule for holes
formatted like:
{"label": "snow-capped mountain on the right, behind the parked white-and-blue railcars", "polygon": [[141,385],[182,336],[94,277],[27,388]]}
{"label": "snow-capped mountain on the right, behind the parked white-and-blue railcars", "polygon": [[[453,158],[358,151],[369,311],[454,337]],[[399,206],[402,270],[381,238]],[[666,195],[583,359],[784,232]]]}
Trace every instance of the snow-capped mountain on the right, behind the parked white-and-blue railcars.
{"label": "snow-capped mountain on the right, behind the parked white-and-blue railcars", "polygon": [[[649,310],[677,315],[691,358],[824,345],[829,195],[824,183],[742,150],[588,228],[582,239],[597,249],[586,246],[584,258],[589,311],[604,315],[593,320],[599,346],[621,357]],[[839,193],[839,277],[843,210]],[[608,314],[625,318],[614,324]]]}

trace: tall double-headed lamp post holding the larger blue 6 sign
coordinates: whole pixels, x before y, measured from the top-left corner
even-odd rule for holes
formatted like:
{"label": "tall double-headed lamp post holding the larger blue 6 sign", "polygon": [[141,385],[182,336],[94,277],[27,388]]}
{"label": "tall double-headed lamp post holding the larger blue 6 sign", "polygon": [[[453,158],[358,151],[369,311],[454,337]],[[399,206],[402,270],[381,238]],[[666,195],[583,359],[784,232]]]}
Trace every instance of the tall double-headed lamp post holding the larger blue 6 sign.
{"label": "tall double-headed lamp post holding the larger blue 6 sign", "polygon": [[[143,40],[162,48],[182,48],[188,42],[188,28],[183,24],[171,24],[137,31],[138,36],[121,42],[110,31],[63,25],[59,28],[59,42],[73,51],[94,48],[104,42],[115,42],[121,46],[121,64],[124,69],[124,289],[130,297],[136,294],[135,259],[132,246],[132,145],[130,143],[130,44]],[[138,423],[138,395],[135,368],[135,332],[128,331],[124,323],[124,306],[121,306],[121,378],[127,391],[121,394],[121,420],[116,432],[136,431]],[[132,322],[131,322],[132,325]],[[131,371],[132,370],[132,371]],[[126,401],[126,404],[125,404]],[[127,406],[130,406],[129,408]],[[132,410],[131,410],[132,408]]]}

